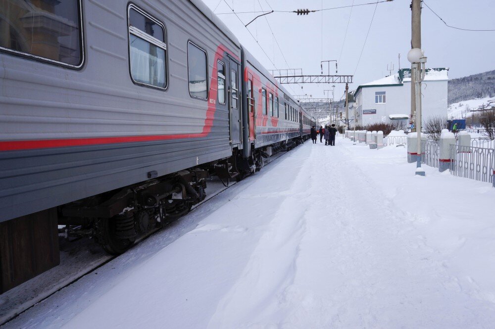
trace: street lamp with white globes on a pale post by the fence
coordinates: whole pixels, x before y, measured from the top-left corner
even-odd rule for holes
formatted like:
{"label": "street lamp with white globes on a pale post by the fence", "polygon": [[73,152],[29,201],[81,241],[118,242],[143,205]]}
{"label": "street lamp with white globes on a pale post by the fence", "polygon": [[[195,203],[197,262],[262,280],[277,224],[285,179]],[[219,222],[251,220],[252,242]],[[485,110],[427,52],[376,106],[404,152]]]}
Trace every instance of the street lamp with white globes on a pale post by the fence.
{"label": "street lamp with white globes on a pale post by the fence", "polygon": [[411,83],[414,83],[416,100],[416,132],[418,139],[418,154],[416,164],[416,175],[425,176],[425,171],[421,168],[421,82],[426,75],[425,52],[420,48],[412,48],[407,53],[407,60],[412,64]]}

